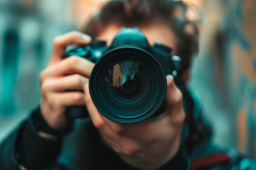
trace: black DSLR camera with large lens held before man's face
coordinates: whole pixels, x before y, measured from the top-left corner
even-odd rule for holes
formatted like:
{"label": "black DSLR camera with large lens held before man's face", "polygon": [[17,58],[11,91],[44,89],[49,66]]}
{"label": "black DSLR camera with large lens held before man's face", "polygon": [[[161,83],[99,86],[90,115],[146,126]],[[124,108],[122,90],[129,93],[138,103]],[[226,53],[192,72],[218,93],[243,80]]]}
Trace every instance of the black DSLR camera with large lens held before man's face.
{"label": "black DSLR camera with large lens held before man's face", "polygon": [[[75,55],[95,62],[89,91],[98,111],[118,123],[136,123],[165,110],[166,75],[183,84],[181,58],[171,51],[159,42],[150,46],[137,27],[122,27],[110,46],[93,40],[66,51],[64,58]],[[86,112],[86,107],[73,106],[67,116],[84,117]]]}

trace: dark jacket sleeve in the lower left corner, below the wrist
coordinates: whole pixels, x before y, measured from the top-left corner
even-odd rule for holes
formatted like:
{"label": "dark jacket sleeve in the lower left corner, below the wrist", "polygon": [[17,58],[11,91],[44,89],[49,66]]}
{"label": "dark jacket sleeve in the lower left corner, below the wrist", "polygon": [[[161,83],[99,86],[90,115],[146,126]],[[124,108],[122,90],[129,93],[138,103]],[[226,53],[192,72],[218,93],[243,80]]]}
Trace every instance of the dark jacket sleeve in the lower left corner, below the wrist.
{"label": "dark jacket sleeve in the lower left corner, below the wrist", "polygon": [[41,170],[58,156],[62,140],[41,137],[25,120],[0,144],[0,169]]}

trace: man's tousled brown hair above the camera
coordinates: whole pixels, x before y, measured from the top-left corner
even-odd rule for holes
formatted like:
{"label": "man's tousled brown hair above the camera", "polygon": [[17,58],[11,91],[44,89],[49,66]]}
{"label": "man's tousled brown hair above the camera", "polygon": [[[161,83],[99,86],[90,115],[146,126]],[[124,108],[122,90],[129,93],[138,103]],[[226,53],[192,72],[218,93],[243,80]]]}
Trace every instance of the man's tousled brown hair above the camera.
{"label": "man's tousled brown hair above the camera", "polygon": [[[183,69],[190,67],[192,55],[198,51],[198,28],[188,20],[188,6],[175,0],[110,0],[93,15],[83,32],[95,38],[104,26],[116,23],[121,26],[138,26],[148,24],[153,18],[168,22],[178,38],[175,55],[182,57]],[[188,26],[192,32],[188,32]]]}

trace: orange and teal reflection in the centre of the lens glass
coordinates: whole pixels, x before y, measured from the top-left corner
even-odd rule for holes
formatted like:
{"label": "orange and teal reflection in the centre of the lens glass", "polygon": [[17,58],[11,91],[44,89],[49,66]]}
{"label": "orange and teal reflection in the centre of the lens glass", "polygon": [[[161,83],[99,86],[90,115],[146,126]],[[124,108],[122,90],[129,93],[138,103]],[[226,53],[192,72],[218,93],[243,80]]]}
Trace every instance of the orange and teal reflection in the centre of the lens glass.
{"label": "orange and teal reflection in the centre of the lens glass", "polygon": [[105,82],[112,86],[120,96],[134,97],[141,89],[140,66],[137,62],[122,61],[114,65],[107,73]]}

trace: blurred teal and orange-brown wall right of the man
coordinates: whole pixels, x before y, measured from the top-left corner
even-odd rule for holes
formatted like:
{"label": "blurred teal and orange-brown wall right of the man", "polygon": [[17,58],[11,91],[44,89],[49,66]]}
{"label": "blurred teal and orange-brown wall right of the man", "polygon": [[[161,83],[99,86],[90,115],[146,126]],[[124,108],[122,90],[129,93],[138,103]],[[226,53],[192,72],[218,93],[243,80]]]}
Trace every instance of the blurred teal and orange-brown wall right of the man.
{"label": "blurred teal and orange-brown wall right of the man", "polygon": [[190,86],[201,95],[214,142],[256,159],[256,1],[202,0],[199,5],[200,52]]}

